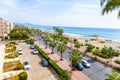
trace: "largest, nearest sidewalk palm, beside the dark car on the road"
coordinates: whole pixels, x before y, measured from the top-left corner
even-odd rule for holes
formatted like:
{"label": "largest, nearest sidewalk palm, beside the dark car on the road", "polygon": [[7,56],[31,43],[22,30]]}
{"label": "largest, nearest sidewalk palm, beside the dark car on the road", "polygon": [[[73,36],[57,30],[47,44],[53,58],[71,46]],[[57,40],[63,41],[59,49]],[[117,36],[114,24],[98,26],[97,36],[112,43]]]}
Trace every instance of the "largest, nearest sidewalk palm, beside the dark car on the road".
{"label": "largest, nearest sidewalk palm, beside the dark car on the road", "polygon": [[81,60],[82,60],[82,56],[79,53],[79,51],[73,50],[72,53],[71,53],[71,55],[70,55],[70,61],[71,61],[72,66],[73,66],[73,70],[75,69],[76,64],[78,62],[81,62]]}

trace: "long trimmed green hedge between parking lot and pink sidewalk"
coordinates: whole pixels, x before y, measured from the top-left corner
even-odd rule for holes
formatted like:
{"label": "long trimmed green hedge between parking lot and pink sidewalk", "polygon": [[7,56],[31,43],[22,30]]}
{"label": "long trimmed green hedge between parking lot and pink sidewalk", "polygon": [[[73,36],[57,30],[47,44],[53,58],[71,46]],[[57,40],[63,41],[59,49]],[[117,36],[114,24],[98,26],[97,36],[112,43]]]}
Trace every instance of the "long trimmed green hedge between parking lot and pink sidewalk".
{"label": "long trimmed green hedge between parking lot and pink sidewalk", "polygon": [[56,73],[59,75],[60,80],[70,80],[71,76],[70,73],[60,68],[55,61],[51,60],[48,55],[40,49],[37,45],[35,45],[35,48],[39,51],[39,53],[44,57],[50,64],[50,66],[56,71]]}

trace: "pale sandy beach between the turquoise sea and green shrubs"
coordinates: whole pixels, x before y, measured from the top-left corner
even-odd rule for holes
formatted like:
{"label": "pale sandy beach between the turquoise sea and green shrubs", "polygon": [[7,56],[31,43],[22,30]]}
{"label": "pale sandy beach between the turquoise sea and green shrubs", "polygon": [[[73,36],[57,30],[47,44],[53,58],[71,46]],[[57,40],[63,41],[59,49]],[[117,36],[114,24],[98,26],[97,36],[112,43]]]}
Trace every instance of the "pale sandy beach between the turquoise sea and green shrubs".
{"label": "pale sandy beach between the turquoise sea and green shrubs", "polygon": [[[113,40],[105,40],[103,38],[96,38],[96,37],[85,37],[81,36],[79,34],[70,34],[70,33],[64,33],[64,36],[68,36],[71,39],[78,39],[80,43],[85,44],[85,40],[88,39],[90,44],[102,48],[104,46],[106,47],[112,47],[113,49],[120,51],[120,42],[118,41],[113,41]],[[101,41],[104,41],[104,43],[101,43]]]}

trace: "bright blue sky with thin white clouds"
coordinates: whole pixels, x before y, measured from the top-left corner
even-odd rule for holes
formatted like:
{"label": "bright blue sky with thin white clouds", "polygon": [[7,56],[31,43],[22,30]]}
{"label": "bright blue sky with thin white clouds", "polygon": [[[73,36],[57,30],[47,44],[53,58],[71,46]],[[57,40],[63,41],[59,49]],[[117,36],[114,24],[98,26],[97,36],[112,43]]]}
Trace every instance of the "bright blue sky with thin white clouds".
{"label": "bright blue sky with thin white clouds", "polygon": [[48,26],[120,28],[117,11],[101,15],[100,0],[0,0],[0,17]]}

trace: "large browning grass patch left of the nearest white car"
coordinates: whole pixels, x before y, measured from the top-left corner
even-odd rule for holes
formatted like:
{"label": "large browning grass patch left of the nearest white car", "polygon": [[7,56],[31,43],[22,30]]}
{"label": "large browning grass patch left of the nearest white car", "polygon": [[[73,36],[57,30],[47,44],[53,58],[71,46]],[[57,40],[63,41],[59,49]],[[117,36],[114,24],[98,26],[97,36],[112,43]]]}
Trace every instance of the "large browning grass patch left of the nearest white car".
{"label": "large browning grass patch left of the nearest white car", "polygon": [[22,70],[24,69],[24,65],[20,63],[20,61],[15,62],[7,62],[3,65],[3,72],[13,71],[13,70]]}

